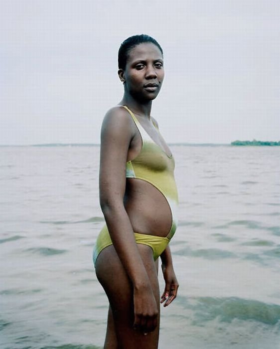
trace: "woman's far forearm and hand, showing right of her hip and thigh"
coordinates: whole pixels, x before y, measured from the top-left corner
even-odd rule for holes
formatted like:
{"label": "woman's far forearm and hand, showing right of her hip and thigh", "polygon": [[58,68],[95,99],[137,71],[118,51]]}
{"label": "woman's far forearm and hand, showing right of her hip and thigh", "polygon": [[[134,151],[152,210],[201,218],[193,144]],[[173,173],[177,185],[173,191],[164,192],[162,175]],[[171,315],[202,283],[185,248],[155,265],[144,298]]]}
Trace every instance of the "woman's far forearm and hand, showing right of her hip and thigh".
{"label": "woman's far forearm and hand, showing right of her hip and thigh", "polygon": [[178,281],[173,269],[172,256],[169,245],[160,255],[161,269],[165,281],[165,289],[161,296],[160,303],[164,303],[163,307],[167,307],[177,296]]}

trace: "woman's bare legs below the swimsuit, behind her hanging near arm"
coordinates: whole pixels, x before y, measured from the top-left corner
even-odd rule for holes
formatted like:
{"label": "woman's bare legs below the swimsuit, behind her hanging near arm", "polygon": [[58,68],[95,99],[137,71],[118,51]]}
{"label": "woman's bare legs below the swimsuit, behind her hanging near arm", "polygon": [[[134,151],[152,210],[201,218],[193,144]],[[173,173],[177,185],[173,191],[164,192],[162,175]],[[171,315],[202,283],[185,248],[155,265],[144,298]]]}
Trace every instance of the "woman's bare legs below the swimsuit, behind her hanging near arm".
{"label": "woman's bare legs below the swimsuit, behind her hanging near arm", "polygon": [[[159,288],[152,250],[146,245],[138,244],[137,246],[150,279],[159,314]],[[113,316],[112,322],[109,309],[104,348],[156,349],[158,345],[159,315],[157,328],[153,332],[144,335],[142,332],[133,329],[133,288],[113,245],[106,247],[100,253],[95,269],[97,278],[108,296]],[[118,346],[114,343],[116,338]]]}

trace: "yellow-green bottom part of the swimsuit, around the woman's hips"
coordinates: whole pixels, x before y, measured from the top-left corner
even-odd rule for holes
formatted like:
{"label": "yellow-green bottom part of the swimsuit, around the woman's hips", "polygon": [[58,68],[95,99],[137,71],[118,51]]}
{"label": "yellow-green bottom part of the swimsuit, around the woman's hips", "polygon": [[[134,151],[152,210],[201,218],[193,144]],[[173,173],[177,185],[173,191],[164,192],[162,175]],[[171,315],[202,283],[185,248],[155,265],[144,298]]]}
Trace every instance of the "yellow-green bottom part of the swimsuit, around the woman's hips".
{"label": "yellow-green bottom part of the swimsuit, around the woman's hips", "polygon": [[[168,234],[169,235],[169,234]],[[137,244],[147,245],[152,249],[153,259],[156,260],[167,247],[170,239],[168,237],[134,233]],[[107,225],[99,233],[93,250],[93,262],[96,263],[99,253],[106,247],[113,245]]]}

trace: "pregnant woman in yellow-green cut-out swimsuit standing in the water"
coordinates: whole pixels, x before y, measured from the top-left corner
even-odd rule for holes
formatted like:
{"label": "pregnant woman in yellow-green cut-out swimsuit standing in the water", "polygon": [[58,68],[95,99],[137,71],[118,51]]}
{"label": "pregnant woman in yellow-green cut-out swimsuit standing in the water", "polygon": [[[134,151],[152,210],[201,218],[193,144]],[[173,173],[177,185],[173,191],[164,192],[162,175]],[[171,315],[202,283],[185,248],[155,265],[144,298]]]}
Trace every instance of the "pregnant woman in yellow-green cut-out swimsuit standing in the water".
{"label": "pregnant woman in yellow-green cut-out swimsuit standing in the water", "polygon": [[[120,104],[101,130],[100,204],[106,225],[94,251],[96,275],[110,303],[105,349],[158,345],[159,303],[168,306],[178,282],[168,242],[176,229],[174,160],[150,116],[161,88],[162,49],[148,35],[119,49]],[[159,301],[160,256],[165,290]]]}

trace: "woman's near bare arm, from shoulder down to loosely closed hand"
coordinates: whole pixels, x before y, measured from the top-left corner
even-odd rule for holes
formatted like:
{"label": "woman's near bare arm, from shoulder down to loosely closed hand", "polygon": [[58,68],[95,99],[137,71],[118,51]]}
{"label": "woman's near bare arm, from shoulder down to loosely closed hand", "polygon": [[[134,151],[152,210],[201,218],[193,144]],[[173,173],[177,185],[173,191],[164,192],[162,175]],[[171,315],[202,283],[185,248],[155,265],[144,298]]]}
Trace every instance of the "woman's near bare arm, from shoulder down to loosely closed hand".
{"label": "woman's near bare arm, from shoulder down to loosely closed hand", "polygon": [[106,114],[101,129],[100,205],[113,245],[133,284],[134,326],[148,332],[157,325],[158,311],[124,206],[126,163],[134,132],[124,108],[116,107]]}

